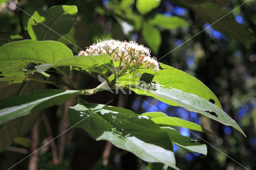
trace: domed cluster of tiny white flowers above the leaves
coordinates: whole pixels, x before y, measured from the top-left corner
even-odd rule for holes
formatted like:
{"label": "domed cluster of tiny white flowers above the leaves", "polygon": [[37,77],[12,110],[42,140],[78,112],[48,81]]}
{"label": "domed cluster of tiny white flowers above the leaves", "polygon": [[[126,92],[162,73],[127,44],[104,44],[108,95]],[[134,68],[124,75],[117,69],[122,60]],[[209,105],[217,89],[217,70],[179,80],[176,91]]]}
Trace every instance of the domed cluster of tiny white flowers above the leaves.
{"label": "domed cluster of tiny white flowers above the leaves", "polygon": [[150,49],[143,45],[138,45],[136,42],[120,42],[118,40],[104,40],[98,41],[90,45],[86,51],[80,51],[78,55],[100,55],[108,54],[113,61],[121,61],[122,66],[136,66],[139,67],[145,63],[146,68],[154,68],[158,71],[159,65],[156,58],[150,57]]}

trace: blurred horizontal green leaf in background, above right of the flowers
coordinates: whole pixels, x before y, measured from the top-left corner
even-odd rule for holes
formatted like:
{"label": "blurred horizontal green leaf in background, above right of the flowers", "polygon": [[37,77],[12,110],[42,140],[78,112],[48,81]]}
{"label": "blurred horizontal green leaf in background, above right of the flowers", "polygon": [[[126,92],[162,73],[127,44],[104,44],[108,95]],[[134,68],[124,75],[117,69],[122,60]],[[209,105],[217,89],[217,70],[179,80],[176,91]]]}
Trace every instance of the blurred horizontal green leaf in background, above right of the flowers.
{"label": "blurred horizontal green leaf in background, above right of the flowers", "polygon": [[183,18],[178,16],[168,17],[163,14],[156,14],[148,23],[164,29],[176,29],[189,26],[188,21]]}

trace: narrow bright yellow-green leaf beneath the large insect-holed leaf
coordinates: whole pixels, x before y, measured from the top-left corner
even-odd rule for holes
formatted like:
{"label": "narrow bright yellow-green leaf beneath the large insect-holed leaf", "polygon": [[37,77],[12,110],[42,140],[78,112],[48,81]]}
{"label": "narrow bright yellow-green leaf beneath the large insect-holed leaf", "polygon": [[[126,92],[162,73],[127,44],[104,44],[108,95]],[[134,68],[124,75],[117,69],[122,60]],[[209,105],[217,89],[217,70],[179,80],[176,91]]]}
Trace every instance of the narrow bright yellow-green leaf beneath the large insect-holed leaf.
{"label": "narrow bright yellow-green leaf beneath the large insect-holed leaf", "polygon": [[154,123],[160,125],[161,127],[170,125],[170,126],[184,127],[192,130],[197,130],[200,132],[210,133],[208,130],[201,127],[200,125],[197,125],[196,123],[185,121],[178,117],[168,117],[167,115],[161,112],[148,112],[148,113],[143,113],[142,115],[149,117],[152,121],[154,121]]}

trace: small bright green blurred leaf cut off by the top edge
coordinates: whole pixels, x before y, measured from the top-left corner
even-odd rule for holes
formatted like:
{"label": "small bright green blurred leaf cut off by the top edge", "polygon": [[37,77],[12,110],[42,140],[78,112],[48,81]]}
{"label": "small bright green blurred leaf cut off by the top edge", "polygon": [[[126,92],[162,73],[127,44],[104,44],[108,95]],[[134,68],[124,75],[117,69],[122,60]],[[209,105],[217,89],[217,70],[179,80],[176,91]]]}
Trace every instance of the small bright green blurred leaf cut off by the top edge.
{"label": "small bright green blurred leaf cut off by the top edge", "polygon": [[154,8],[158,7],[161,3],[161,0],[137,0],[136,8],[140,14],[147,14]]}

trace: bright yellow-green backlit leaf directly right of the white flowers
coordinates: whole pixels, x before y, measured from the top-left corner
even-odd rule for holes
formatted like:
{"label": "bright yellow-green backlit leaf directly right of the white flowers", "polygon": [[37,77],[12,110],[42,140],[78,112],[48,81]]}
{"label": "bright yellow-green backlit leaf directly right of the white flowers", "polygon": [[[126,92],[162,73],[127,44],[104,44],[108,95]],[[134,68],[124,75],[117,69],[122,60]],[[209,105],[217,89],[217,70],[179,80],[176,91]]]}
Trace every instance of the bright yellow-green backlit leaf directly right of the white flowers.
{"label": "bright yellow-green backlit leaf directly right of the white flowers", "polygon": [[[210,100],[214,105],[222,109],[218,98],[212,93],[212,91],[204,85],[200,80],[188,75],[187,73],[178,70],[169,65],[159,63],[162,69],[159,69],[158,73],[153,71],[153,69],[138,69],[141,73],[141,77],[136,79],[132,78],[132,73],[123,75],[118,78],[118,85],[132,85],[139,84],[140,81],[146,83],[155,82],[156,84],[163,85],[165,87],[172,87],[175,89],[180,89],[186,93],[192,93],[203,99]],[[113,79],[114,75],[110,76],[110,79]],[[147,80],[150,79],[149,82]],[[168,102],[169,105],[178,106],[177,103]]]}

